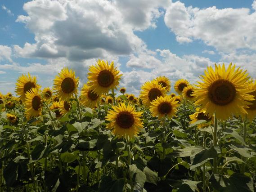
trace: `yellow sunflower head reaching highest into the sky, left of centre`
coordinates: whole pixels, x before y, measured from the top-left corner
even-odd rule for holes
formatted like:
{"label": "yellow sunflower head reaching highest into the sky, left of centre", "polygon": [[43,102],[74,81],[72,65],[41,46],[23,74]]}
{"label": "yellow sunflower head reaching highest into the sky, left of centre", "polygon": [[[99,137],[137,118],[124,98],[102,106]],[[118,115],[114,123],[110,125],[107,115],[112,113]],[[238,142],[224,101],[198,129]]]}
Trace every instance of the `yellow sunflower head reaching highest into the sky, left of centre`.
{"label": "yellow sunflower head reaching highest into the sky, left of centre", "polygon": [[114,67],[114,62],[109,65],[103,60],[98,60],[96,66],[90,66],[89,71],[88,85],[98,95],[108,94],[109,89],[117,89],[122,76],[119,74],[120,71]]}

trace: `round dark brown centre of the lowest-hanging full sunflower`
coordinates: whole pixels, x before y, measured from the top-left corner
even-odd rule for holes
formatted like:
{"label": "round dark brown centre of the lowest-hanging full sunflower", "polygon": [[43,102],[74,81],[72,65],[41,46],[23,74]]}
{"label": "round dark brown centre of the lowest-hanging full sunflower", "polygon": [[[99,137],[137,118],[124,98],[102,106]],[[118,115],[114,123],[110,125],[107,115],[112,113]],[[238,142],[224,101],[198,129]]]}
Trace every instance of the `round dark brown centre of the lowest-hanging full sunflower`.
{"label": "round dark brown centre of the lowest-hanging full sunflower", "polygon": [[129,129],[134,124],[134,117],[130,112],[120,112],[116,118],[117,125]]}

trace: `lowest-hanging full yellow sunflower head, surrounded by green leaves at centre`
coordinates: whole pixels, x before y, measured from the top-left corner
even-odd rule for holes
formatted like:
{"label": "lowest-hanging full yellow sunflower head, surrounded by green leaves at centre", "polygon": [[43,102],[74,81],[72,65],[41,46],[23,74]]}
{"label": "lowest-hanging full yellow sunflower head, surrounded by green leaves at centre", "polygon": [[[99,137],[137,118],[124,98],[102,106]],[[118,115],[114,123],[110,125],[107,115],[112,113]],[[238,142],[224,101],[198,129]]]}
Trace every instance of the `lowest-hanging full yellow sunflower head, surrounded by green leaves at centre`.
{"label": "lowest-hanging full yellow sunflower head, surrounded by green leaves at centre", "polygon": [[134,137],[140,129],[143,129],[143,123],[140,119],[142,112],[135,112],[134,107],[129,104],[126,107],[125,103],[112,108],[106,116],[106,120],[110,121],[107,128],[112,129],[112,133],[118,138]]}

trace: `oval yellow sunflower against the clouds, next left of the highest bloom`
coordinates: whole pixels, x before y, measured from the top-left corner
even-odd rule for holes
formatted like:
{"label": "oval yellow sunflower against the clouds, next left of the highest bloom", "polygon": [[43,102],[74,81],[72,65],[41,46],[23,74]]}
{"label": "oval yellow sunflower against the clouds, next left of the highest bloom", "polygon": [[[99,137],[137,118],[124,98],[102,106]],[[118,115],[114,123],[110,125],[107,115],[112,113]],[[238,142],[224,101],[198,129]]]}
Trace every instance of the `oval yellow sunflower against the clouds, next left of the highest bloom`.
{"label": "oval yellow sunflower against the clouds, next left of the highest bloom", "polygon": [[68,68],[63,68],[54,79],[55,94],[60,100],[69,100],[77,94],[79,77],[76,78],[75,72]]}

